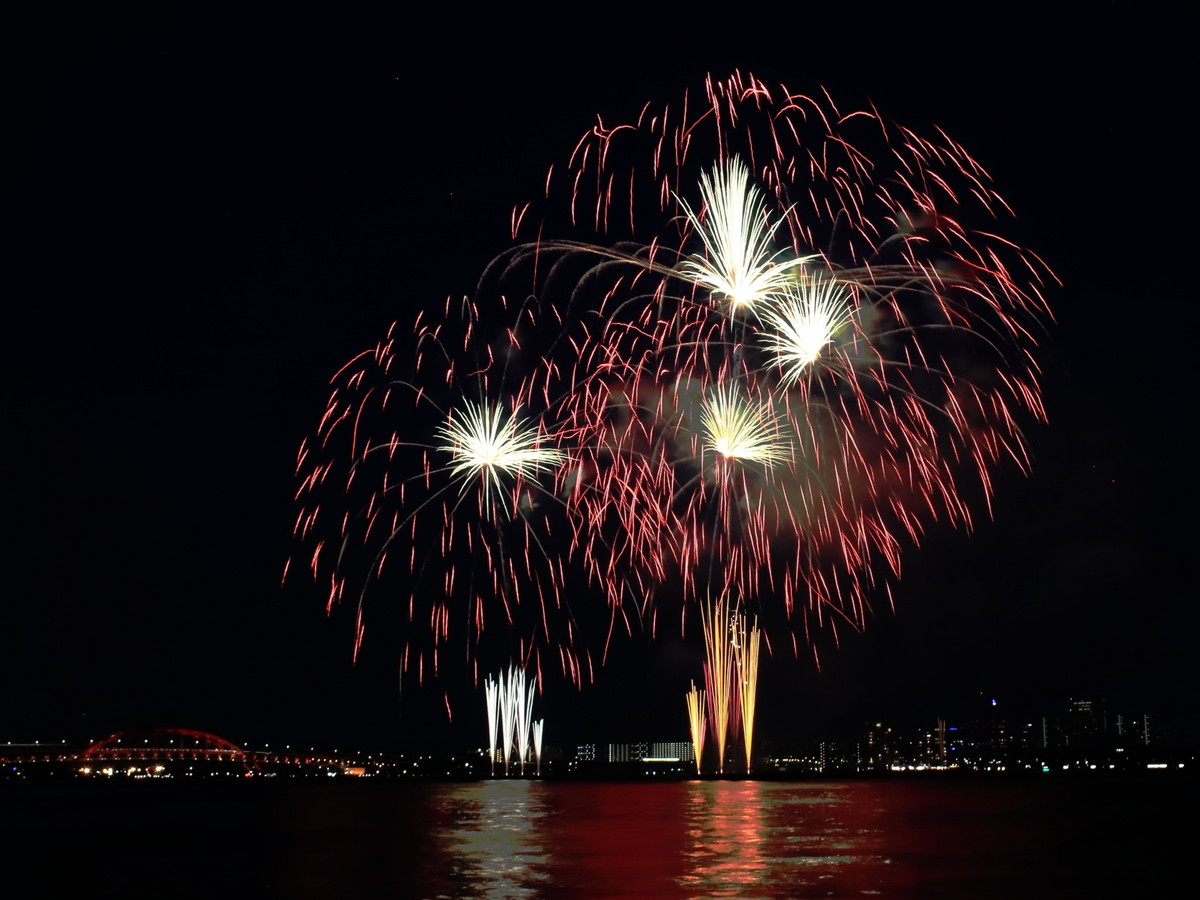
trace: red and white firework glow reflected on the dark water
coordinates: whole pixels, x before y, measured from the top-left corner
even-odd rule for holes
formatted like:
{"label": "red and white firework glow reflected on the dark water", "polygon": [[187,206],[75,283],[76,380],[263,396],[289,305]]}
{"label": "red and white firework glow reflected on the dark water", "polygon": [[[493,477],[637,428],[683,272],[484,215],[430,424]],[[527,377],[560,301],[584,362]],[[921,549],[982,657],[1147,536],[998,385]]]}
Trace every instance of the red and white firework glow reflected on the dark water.
{"label": "red and white firework glow reflected on the dark water", "polygon": [[878,828],[862,787],[521,780],[434,787],[431,820],[440,823],[445,865],[440,883],[425,890],[481,898],[877,894]]}

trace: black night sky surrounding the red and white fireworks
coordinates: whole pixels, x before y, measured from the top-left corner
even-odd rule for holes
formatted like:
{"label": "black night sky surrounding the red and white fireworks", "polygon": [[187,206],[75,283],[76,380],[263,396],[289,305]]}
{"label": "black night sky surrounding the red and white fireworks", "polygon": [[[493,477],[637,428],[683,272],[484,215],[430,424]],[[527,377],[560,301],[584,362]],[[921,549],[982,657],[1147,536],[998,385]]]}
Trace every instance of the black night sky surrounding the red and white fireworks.
{"label": "black night sky surrounding the red and white fireworks", "polygon": [[[481,700],[446,726],[386,653],[352,666],[344,612],[281,588],[296,448],[334,371],[469,290],[598,113],[736,67],[944,127],[1064,282],[1033,475],[1001,478],[973,534],[934,529],[895,613],[881,600],[820,672],[764,664],[761,733],[992,696],[1195,715],[1183,29],[1138,10],[1085,26],[1003,6],[979,28],[906,5],[724,41],[612,16],[553,40],[506,22],[287,46],[160,28],[48,50],[11,138],[0,740],[481,738]],[[1108,54],[1118,40],[1129,56]],[[694,648],[619,655],[551,690],[548,742],[683,737]]]}

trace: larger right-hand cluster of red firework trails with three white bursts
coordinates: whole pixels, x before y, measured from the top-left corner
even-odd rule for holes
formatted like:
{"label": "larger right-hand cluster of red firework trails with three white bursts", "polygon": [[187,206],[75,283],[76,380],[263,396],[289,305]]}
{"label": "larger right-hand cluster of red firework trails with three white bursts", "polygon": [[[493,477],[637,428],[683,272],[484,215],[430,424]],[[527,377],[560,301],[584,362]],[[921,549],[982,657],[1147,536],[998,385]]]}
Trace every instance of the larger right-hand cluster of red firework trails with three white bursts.
{"label": "larger right-hand cluster of red firework trails with three white bursts", "polygon": [[[601,364],[557,410],[592,472],[572,497],[584,556],[611,605],[654,589],[624,574],[661,581],[670,564],[685,602],[760,598],[806,638],[860,628],[876,570],[899,574],[898,532],[971,527],[992,469],[1027,468],[1020,422],[1044,416],[1034,350],[1054,276],[997,236],[1007,205],[944,136],[737,73],[710,80],[692,118],[679,110],[584,136],[547,192],[565,173],[586,227],[540,250],[594,259],[563,305],[592,314],[572,346]],[[650,155],[664,142],[672,167]],[[632,187],[596,187],[612,181]],[[769,398],[788,458],[714,452],[730,445],[706,394]]]}

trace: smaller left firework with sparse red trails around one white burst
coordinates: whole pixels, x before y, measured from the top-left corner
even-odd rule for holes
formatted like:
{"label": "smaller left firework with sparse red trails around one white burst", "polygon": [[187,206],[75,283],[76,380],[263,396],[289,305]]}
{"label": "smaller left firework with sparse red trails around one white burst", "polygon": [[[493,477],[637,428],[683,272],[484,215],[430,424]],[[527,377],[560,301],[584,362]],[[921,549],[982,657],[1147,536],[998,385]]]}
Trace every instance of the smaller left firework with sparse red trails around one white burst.
{"label": "smaller left firework with sparse red trails around one white burst", "polygon": [[392,325],[335,376],[298,461],[296,538],[319,538],[311,571],[328,584],[326,608],[358,598],[355,656],[370,595],[390,562],[407,563],[402,668],[419,680],[448,659],[478,665],[492,655],[485,644],[535,666],[550,650],[576,680],[590,670],[574,648],[559,652],[572,612],[554,542],[571,467],[545,418],[557,382],[550,360],[521,358],[536,311],[502,302],[488,324],[505,313],[497,336],[478,304],[424,311],[415,352]]}

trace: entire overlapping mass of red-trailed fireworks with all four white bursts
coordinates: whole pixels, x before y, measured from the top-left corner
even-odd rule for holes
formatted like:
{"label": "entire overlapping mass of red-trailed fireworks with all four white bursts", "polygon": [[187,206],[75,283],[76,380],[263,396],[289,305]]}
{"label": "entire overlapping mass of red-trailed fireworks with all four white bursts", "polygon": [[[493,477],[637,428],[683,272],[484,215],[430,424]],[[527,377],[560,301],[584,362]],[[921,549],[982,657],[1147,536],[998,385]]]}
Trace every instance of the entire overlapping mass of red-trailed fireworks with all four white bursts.
{"label": "entire overlapping mass of red-trailed fireworks with all four white bursts", "polygon": [[[572,571],[606,647],[714,595],[814,653],[862,628],[905,545],[1030,467],[1055,278],[1010,216],[944,134],[749,74],[589,131],[515,211],[534,241],[335,376],[296,468],[326,606],[358,594],[356,650],[398,557],[406,671],[494,640],[576,682]],[[722,678],[714,727],[751,731]]]}

